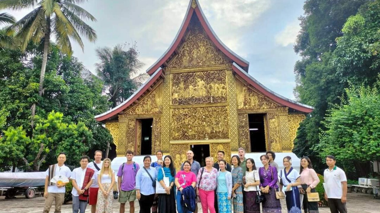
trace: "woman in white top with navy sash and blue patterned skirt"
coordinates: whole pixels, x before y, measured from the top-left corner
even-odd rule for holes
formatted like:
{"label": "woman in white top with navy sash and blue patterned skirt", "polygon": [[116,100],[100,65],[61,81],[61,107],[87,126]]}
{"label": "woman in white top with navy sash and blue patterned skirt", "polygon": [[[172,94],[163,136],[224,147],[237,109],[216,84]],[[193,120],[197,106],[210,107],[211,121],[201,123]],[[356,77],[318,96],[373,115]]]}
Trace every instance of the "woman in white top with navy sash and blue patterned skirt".
{"label": "woman in white top with navy sash and blue patterned skirt", "polygon": [[291,166],[291,157],[283,158],[284,169],[280,171],[280,191],[283,186],[286,197],[286,206],[288,213],[301,213],[301,203],[299,201],[298,187],[301,185],[298,171]]}

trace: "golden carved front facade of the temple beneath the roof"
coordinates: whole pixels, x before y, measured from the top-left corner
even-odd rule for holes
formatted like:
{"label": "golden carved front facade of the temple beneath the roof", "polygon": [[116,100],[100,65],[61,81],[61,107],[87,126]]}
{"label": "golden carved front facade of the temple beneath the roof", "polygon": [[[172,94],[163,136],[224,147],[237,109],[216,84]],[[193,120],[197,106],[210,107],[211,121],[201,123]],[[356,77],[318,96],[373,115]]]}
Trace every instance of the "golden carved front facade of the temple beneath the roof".
{"label": "golden carved front facade of the temple beneath the roof", "polygon": [[106,123],[117,155],[141,152],[139,119],[152,118],[152,154],[160,149],[170,154],[177,169],[192,145],[209,145],[210,153],[203,154],[215,160],[217,151],[224,150],[229,161],[239,147],[250,152],[248,114],[253,113],[264,114],[266,149],[290,152],[305,115],[288,113],[287,107],[243,83],[193,20],[157,85],[125,108],[118,122]]}

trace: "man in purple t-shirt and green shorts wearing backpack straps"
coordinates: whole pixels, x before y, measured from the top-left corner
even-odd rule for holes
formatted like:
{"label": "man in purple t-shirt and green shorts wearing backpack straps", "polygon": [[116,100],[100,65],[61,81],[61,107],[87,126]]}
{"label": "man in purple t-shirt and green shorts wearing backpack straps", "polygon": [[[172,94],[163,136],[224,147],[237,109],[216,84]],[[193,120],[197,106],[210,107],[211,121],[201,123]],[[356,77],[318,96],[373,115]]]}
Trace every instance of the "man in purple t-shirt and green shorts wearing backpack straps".
{"label": "man in purple t-shirt and green shorts wearing backpack straps", "polygon": [[119,184],[119,203],[120,213],[125,211],[125,203],[129,202],[129,212],[135,212],[135,200],[136,200],[136,173],[140,169],[139,164],[132,161],[133,152],[128,150],[127,162],[123,163],[117,171],[117,183]]}

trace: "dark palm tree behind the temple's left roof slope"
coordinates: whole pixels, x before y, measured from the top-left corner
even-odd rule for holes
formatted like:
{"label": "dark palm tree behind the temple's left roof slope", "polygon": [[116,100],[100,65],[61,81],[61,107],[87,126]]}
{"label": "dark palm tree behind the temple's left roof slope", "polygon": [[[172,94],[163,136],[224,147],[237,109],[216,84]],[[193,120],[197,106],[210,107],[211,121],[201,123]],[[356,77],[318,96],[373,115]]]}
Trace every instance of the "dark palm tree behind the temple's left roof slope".
{"label": "dark palm tree behind the temple's left roof slope", "polygon": [[112,108],[128,99],[149,78],[146,73],[138,74],[144,64],[137,59],[136,43],[131,48],[126,44],[116,45],[113,49],[101,47],[96,52],[100,60],[95,64],[96,71],[104,81],[104,92],[112,102]]}

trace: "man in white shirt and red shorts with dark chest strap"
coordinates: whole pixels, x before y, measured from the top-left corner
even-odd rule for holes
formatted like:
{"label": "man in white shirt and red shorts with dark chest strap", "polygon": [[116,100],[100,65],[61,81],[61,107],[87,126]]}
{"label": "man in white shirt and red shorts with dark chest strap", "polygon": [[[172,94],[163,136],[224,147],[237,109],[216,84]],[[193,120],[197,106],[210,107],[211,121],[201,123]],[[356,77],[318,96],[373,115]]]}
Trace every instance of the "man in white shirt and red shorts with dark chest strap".
{"label": "man in white shirt and red shorts with dark chest strap", "polygon": [[98,200],[98,172],[101,169],[101,166],[103,165],[103,161],[101,160],[101,157],[103,155],[103,152],[100,150],[95,151],[95,161],[89,163],[87,165],[88,168],[91,168],[95,171],[94,173],[94,181],[92,182],[92,185],[90,186],[90,196],[89,196],[89,205],[91,205],[91,213],[95,213],[96,211],[96,204]]}

